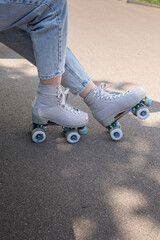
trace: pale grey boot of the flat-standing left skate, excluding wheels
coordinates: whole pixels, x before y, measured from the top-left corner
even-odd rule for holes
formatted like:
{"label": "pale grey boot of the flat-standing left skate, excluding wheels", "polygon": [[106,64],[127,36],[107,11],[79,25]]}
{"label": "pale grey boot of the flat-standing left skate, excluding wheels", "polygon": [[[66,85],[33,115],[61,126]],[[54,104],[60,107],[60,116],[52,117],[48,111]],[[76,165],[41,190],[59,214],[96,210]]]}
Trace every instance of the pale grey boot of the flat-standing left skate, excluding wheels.
{"label": "pale grey boot of the flat-standing left skate, excluding wheels", "polygon": [[78,128],[86,126],[88,114],[66,104],[69,89],[62,91],[61,86],[39,85],[38,95],[32,105],[32,120],[36,124],[54,122],[63,127]]}

